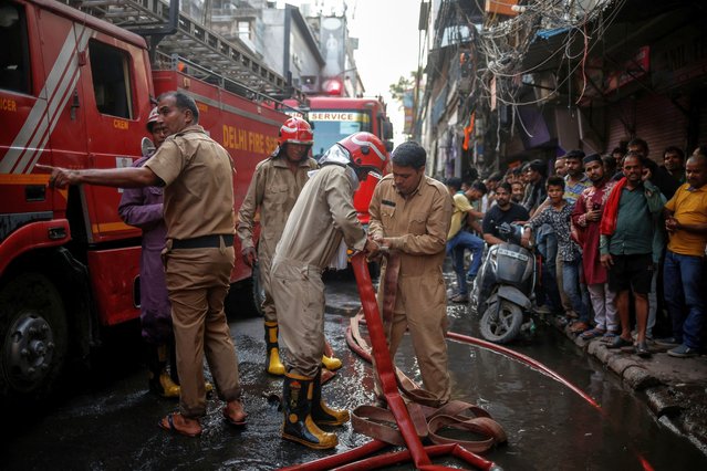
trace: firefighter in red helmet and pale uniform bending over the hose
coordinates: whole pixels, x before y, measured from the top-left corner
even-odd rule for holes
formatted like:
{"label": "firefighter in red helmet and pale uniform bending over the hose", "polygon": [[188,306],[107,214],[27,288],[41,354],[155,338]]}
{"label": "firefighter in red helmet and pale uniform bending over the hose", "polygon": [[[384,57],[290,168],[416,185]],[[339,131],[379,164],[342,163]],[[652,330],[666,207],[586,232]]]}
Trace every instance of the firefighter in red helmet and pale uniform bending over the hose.
{"label": "firefighter in red helmet and pale uniform bending over the hose", "polygon": [[[374,253],[353,207],[358,181],[387,163],[385,146],[371,133],[353,134],[321,158],[292,208],[272,260],[272,297],[289,349],[283,383],[282,438],[314,449],[334,448],[335,433],[320,425],[339,426],[349,411],[329,408],[322,400],[321,358],[324,350],[324,284],[322,271],[345,248]],[[345,245],[342,245],[342,240]],[[346,260],[343,257],[343,266]]]}

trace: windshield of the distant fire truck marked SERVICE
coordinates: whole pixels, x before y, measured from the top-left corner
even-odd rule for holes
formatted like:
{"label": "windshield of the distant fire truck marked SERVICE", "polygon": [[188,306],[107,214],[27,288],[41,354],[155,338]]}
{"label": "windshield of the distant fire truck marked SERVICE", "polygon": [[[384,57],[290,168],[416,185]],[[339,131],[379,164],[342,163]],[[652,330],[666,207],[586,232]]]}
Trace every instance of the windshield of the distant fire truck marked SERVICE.
{"label": "windshield of the distant fire truck marked SERVICE", "polygon": [[316,160],[334,144],[360,130],[371,133],[371,115],[366,112],[345,109],[316,109],[310,112],[313,125],[314,145],[312,157]]}

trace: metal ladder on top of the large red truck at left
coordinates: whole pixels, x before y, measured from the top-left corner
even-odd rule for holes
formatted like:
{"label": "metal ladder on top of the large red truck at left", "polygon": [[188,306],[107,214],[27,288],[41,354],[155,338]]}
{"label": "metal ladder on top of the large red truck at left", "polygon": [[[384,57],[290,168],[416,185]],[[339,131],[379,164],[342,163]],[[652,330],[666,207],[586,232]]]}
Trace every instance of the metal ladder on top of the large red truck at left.
{"label": "metal ladder on top of the large red truck at left", "polygon": [[[160,0],[62,0],[92,17],[108,21],[141,35],[163,35],[159,56],[174,57],[189,54],[189,60],[201,67],[228,77],[243,86],[277,100],[300,95],[287,81],[267,67],[238,38],[226,40],[198,21],[179,12],[176,31],[165,35],[162,31],[169,20],[169,4]],[[150,33],[150,31],[153,33]],[[157,61],[155,54],[153,54]],[[154,64],[168,69],[170,64]]]}

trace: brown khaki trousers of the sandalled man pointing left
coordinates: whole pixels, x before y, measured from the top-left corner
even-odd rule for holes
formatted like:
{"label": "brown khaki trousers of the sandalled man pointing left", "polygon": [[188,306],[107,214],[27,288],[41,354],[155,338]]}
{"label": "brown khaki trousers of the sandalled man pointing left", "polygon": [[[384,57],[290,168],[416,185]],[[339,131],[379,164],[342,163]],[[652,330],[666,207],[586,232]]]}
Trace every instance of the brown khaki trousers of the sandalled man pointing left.
{"label": "brown khaki trousers of the sandalled man pointing left", "polygon": [[184,417],[206,414],[204,355],[222,400],[240,398],[238,356],[223,313],[235,254],[232,247],[164,252],[177,350]]}

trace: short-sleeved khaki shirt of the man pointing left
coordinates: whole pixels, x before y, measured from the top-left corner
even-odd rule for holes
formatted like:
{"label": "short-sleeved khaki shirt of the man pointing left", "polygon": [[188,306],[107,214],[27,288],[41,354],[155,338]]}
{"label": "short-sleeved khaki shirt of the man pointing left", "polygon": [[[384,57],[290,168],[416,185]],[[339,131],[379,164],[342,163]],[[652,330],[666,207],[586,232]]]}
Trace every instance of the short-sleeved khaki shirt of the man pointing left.
{"label": "short-sleeved khaki shirt of the man pointing left", "polygon": [[167,239],[233,233],[231,157],[201,126],[169,136],[145,167],[165,182]]}

